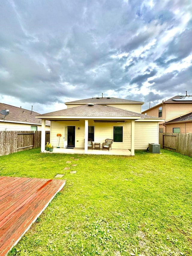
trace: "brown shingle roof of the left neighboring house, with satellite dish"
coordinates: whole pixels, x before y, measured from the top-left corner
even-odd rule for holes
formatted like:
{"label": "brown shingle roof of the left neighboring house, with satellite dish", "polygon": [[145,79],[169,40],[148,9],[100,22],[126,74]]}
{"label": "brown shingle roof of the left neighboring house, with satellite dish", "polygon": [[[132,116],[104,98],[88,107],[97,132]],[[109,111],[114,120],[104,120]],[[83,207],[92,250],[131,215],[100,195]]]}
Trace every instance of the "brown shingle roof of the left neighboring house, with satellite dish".
{"label": "brown shingle roof of the left neighboring house, with satellite dish", "polygon": [[[41,119],[35,118],[35,116],[39,115],[38,112],[26,110],[20,107],[14,107],[4,103],[0,103],[0,111],[1,110],[9,110],[9,114],[7,116],[0,114],[1,121],[5,121],[5,122],[12,121],[12,122],[25,123],[25,124],[30,123],[30,124],[41,125]],[[47,121],[46,125],[50,125],[50,122]]]}

